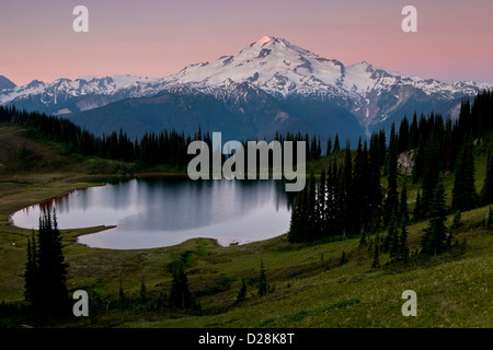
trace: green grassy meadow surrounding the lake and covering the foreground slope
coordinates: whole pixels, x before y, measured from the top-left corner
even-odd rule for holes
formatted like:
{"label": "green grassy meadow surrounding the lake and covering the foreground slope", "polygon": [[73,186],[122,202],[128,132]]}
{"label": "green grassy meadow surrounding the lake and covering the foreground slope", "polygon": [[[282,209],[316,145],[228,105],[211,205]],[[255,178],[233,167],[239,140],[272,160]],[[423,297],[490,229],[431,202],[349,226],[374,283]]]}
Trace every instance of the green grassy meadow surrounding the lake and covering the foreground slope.
{"label": "green grassy meadow surrounding the lake and covering the foreground slope", "polygon": [[[0,139],[1,135],[0,128]],[[51,151],[48,148],[41,152]],[[9,214],[73,189],[102,185],[102,179],[122,178],[112,175],[118,168],[116,162],[72,156],[64,162],[64,166],[0,173],[0,302],[23,301],[26,245],[32,234],[32,230],[12,226]],[[318,162],[322,166],[323,160]],[[477,168],[483,172],[484,166]],[[447,186],[448,197],[450,190]],[[412,199],[410,196],[410,205]],[[491,328],[493,233],[482,224],[488,211],[484,207],[462,213],[463,225],[454,232],[459,245],[449,252],[434,258],[413,257],[406,266],[388,264],[388,256],[382,255],[379,269],[370,268],[371,252],[360,246],[358,236],[290,244],[284,234],[229,247],[214,240],[195,238],[171,247],[122,250],[77,243],[78,236],[105,226],[62,230],[69,293],[83,289],[111,301],[118,298],[122,285],[128,298],[138,299],[142,281],[150,296],[169,293],[170,266],[177,257],[186,256],[190,288],[197,295],[202,313],[153,312],[134,306],[110,308],[96,319],[73,317],[48,326]],[[452,215],[448,224],[451,221]],[[426,226],[426,222],[409,226],[411,252],[419,247]],[[343,250],[348,261],[341,265]],[[272,287],[262,298],[255,285],[261,261]],[[237,303],[242,278],[246,281],[246,298]],[[417,294],[416,317],[401,313],[404,290]],[[7,323],[20,327],[25,320],[11,317]]]}

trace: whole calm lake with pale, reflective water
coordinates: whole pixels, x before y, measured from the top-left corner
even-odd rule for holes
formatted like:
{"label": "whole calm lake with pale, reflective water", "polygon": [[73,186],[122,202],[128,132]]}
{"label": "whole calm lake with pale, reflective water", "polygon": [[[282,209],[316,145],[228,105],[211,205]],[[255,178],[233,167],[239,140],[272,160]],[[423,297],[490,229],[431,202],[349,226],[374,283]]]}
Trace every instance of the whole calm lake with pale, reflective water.
{"label": "whole calm lake with pale, reflective water", "polygon": [[42,209],[55,208],[59,229],[116,225],[78,240],[101,248],[163,247],[195,237],[243,244],[288,231],[289,196],[280,180],[130,179],[74,190],[11,219],[37,230]]}

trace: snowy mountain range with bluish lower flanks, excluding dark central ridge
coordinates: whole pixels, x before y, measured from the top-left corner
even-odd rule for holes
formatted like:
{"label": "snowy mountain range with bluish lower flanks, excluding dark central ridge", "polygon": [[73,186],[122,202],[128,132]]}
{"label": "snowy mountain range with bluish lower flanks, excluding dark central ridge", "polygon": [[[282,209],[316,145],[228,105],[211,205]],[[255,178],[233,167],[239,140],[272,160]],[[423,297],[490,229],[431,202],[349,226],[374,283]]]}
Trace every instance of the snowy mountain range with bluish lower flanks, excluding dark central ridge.
{"label": "snowy mountain range with bluish lower flanks, excluding dark central ridge", "polygon": [[[246,94],[256,91],[276,101],[283,120],[305,120],[305,129],[329,135],[347,131],[346,121],[351,118],[368,132],[379,128],[381,122],[389,124],[414,112],[435,110],[454,117],[462,97],[492,88],[493,84],[471,81],[446,84],[406,77],[367,62],[346,67],[283,38],[264,36],[237,55],[187,66],[179,73],[161,79],[89,77],[59,79],[50,84],[33,81],[24,86],[8,85],[3,90],[0,88],[0,104],[77,115],[121,100],[168,92],[181,96],[211,96],[231,112],[240,110],[237,107],[244,105]],[[255,103],[261,101],[256,98]],[[84,113],[74,120],[83,124],[83,118]],[[275,119],[274,116],[274,120],[278,117]],[[299,126],[299,122],[293,125]],[[119,128],[118,125],[114,127]],[[173,127],[181,128],[180,125]]]}

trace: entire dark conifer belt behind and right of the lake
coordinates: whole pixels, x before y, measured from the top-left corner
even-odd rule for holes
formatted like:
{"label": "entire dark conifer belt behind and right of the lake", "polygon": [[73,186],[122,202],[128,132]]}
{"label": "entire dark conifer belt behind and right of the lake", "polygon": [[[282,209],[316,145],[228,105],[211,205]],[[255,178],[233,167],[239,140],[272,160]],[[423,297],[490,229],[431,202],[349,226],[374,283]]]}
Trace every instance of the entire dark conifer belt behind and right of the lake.
{"label": "entire dark conifer belt behind and right of the lake", "polygon": [[[455,172],[451,211],[491,203],[493,160],[489,156],[484,186],[477,195],[472,142],[493,130],[492,113],[493,93],[484,91],[472,104],[469,100],[462,102],[459,118],[455,121],[434,113],[420,118],[414,114],[411,122],[404,116],[399,132],[392,125],[388,143],[383,130],[375,132],[369,140],[358,142],[354,159],[348,145],[341,150],[337,135],[333,142],[329,138],[325,154],[344,151],[344,159],[337,161],[340,156],[334,156],[326,172],[320,175],[320,183],[316,183],[312,175],[299,194],[293,210],[289,240],[306,242],[330,235],[366,234],[380,226],[387,228],[392,221],[402,221],[398,158],[403,152],[409,152],[409,156],[412,154],[414,160],[413,183],[422,184],[413,211],[414,221],[432,219],[442,174]],[[119,131],[99,138],[67,119],[15,107],[0,107],[0,124],[33,128],[67,144],[73,152],[136,162],[144,167],[156,164],[184,166],[194,156],[187,154],[187,145],[193,140],[202,140],[213,150],[209,132],[203,135],[200,128],[193,137],[162,131],[130,141]],[[280,143],[294,141],[294,154],[297,141],[305,141],[307,161],[316,161],[322,155],[320,138],[310,138],[308,133],[277,133],[275,140]],[[248,152],[246,141],[242,143]],[[246,159],[245,154],[245,162]],[[387,177],[386,188],[380,186],[381,175]]]}

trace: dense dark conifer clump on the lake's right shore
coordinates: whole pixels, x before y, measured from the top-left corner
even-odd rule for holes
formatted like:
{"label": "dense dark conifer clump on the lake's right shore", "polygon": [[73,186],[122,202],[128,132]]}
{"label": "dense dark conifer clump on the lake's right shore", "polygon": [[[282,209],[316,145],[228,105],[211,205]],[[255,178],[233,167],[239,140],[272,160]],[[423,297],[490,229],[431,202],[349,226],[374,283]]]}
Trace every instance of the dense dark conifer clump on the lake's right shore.
{"label": "dense dark conifer clump on the lake's right shore", "polygon": [[380,158],[378,142],[359,140],[354,165],[347,145],[344,160],[334,159],[320,182],[311,172],[293,207],[290,242],[309,242],[333,235],[372,230],[380,219]]}

